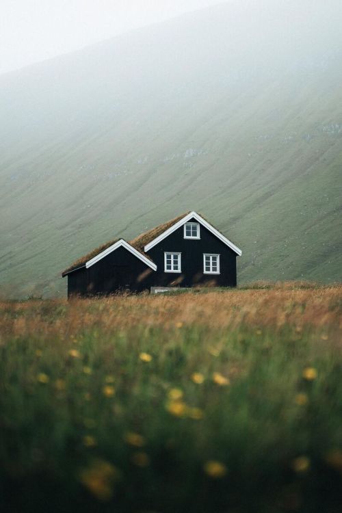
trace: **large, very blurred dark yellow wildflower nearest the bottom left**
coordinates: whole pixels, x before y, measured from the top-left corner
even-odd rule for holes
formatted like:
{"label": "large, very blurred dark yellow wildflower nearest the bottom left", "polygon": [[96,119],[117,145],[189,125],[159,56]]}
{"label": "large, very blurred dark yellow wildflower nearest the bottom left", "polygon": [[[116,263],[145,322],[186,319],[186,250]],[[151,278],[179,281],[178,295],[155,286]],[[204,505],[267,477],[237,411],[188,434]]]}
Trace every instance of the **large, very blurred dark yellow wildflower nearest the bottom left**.
{"label": "large, very blurred dark yellow wildflower nearest the bottom left", "polygon": [[79,472],[79,481],[99,501],[111,499],[117,479],[118,471],[115,466],[103,460],[95,460],[91,466]]}

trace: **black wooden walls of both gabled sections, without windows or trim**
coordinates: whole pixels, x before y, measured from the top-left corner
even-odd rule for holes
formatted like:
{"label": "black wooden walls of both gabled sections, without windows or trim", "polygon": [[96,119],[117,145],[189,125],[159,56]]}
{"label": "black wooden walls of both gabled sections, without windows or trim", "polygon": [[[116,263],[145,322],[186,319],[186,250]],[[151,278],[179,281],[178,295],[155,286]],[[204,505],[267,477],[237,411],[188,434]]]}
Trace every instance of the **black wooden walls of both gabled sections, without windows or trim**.
{"label": "black wooden walls of both gabled sections, without windows or trim", "polygon": [[[193,220],[196,222],[196,220]],[[181,252],[181,273],[164,272],[164,253]],[[203,254],[220,254],[220,274],[203,273]],[[92,267],[68,274],[68,297],[101,295],[129,290],[141,292],[150,287],[236,287],[237,269],[233,250],[200,225],[200,239],[184,239],[184,228],[154,246],[148,255],[157,271],[125,248],[118,248]]]}

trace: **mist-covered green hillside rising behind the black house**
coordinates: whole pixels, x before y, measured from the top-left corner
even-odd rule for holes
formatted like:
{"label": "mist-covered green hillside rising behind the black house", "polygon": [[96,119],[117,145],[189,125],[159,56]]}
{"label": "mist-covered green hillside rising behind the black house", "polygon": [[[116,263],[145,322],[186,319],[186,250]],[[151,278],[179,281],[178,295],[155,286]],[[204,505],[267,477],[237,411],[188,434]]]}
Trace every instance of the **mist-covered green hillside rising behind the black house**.
{"label": "mist-covered green hillside rising behind the black house", "polygon": [[342,9],[227,3],[0,76],[0,283],[183,211],[243,251],[239,282],[342,278]]}

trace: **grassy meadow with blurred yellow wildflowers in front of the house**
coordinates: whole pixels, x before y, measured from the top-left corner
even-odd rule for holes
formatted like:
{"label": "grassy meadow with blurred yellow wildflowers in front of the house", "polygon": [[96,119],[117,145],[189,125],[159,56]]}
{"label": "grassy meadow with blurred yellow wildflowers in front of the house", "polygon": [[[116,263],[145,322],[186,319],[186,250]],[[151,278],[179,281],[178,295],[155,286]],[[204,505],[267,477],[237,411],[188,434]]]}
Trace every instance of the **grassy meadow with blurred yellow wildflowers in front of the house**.
{"label": "grassy meadow with blurred yellow wildflowers in front of the house", "polygon": [[0,303],[0,510],[341,511],[342,287]]}

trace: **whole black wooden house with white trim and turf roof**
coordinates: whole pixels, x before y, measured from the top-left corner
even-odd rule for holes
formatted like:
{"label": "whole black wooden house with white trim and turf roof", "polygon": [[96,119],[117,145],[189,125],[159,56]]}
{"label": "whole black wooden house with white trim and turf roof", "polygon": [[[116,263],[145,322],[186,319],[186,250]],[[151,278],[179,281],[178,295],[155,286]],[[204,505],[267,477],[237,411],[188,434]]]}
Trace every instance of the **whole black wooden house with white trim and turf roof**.
{"label": "whole black wooden house with white trim and turf roof", "polygon": [[127,242],[104,244],[68,267],[68,297],[151,287],[236,287],[241,250],[196,212]]}

